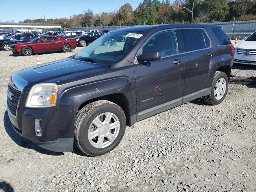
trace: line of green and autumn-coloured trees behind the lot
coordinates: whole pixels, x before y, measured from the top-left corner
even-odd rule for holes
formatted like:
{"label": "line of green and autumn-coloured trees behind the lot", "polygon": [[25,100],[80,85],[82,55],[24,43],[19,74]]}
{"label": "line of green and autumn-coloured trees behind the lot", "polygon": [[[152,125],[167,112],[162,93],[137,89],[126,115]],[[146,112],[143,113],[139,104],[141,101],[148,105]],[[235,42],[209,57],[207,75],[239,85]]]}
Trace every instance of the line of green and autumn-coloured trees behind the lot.
{"label": "line of green and autumn-coloured trees behind the lot", "polygon": [[[94,14],[85,10],[69,18],[26,19],[24,23],[59,23],[63,28],[119,25],[152,25],[191,23],[228,22],[236,20],[256,20],[256,0],[144,0],[135,10],[129,3],[118,11]],[[184,8],[186,7],[186,8]]]}

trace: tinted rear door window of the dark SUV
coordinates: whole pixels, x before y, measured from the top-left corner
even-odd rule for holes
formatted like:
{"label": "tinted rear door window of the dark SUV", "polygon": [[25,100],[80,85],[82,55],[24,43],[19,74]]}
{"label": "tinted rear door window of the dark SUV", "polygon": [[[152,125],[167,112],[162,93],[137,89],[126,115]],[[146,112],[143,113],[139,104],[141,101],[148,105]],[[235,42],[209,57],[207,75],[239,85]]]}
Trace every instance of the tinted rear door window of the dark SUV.
{"label": "tinted rear door window of the dark SUV", "polygon": [[181,29],[180,33],[184,43],[184,52],[206,48],[201,29]]}

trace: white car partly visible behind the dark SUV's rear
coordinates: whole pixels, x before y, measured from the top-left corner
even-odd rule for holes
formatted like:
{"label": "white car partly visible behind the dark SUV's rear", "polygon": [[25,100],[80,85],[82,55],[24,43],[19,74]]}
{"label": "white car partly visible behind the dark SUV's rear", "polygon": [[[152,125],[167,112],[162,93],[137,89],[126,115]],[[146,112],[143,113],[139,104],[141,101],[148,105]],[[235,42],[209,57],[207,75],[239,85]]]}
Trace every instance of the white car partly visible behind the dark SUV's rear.
{"label": "white car partly visible behind the dark SUV's rear", "polygon": [[234,46],[234,63],[256,65],[256,32]]}

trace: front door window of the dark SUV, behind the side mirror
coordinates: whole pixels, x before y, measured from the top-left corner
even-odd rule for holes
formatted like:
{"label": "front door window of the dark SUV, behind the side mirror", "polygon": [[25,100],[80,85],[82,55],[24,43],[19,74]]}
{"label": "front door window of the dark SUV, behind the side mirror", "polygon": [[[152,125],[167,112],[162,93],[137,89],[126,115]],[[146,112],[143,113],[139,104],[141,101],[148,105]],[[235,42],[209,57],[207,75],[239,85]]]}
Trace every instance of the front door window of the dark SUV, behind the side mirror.
{"label": "front door window of the dark SUV, behind the side mirror", "polygon": [[177,54],[178,48],[174,30],[159,32],[154,35],[142,48],[142,54],[146,51],[160,52],[161,57]]}

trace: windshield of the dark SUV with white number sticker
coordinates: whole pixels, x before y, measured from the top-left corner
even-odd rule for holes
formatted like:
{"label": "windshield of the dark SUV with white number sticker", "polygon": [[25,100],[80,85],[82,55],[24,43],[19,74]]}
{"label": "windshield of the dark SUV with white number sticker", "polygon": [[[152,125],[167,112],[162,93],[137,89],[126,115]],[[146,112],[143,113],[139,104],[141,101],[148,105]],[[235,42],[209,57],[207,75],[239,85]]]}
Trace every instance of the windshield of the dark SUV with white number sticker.
{"label": "windshield of the dark SUV with white number sticker", "polygon": [[144,32],[112,32],[89,44],[75,59],[91,58],[102,64],[122,60],[132,50]]}

